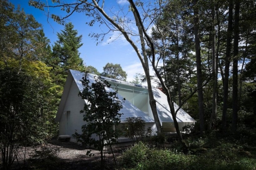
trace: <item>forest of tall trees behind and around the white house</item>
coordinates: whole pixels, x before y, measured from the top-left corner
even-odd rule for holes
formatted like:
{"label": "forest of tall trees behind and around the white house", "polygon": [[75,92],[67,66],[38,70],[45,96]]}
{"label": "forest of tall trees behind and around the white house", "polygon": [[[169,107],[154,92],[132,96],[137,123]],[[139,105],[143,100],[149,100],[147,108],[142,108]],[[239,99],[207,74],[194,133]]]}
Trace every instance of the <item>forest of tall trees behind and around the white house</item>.
{"label": "forest of tall trees behind and around the white house", "polygon": [[[127,36],[131,45],[136,42],[138,57],[143,56],[142,63],[148,61],[147,65],[153,66],[155,77],[149,77],[144,69],[145,76],[137,75],[134,82],[139,84],[144,78],[150,83],[157,77],[158,87],[171,97],[170,108],[172,102],[182,106],[197,120],[195,127],[201,135],[208,130],[227,134],[255,129],[255,1],[125,2],[115,12],[109,11],[109,20],[95,1],[55,3],[67,16],[86,14],[91,18],[89,26],[99,22]],[[41,10],[49,8],[44,2],[28,3]],[[93,4],[98,11],[92,9]],[[65,17],[49,17],[65,25],[52,46],[32,15],[0,0],[1,146],[14,140],[36,144],[57,135],[54,118],[69,69],[126,80],[127,74],[118,64],[106,64],[102,73],[84,65],[78,50],[83,45],[82,36],[72,23],[63,22]],[[91,37],[101,42],[107,33]]]}

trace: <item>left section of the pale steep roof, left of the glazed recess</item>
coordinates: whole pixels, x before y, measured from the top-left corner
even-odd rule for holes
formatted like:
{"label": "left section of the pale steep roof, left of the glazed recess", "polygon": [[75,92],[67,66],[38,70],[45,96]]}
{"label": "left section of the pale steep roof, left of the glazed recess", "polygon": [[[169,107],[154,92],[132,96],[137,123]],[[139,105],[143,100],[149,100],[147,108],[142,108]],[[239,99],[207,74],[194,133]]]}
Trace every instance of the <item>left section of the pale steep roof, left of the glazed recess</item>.
{"label": "left section of the pale steep roof, left of the glazed recess", "polygon": [[[77,87],[79,88],[79,91],[83,91],[84,87],[81,83],[81,79],[82,77],[84,77],[84,73],[80,72],[80,71],[75,71],[75,70],[70,70],[70,73],[68,74],[68,78],[67,78],[67,83],[68,83],[68,80],[70,79],[70,76],[73,77],[74,81],[76,82],[76,85]],[[88,74],[88,79],[90,80],[90,84],[95,82],[95,79],[94,77],[96,78],[99,78],[98,76],[94,75],[94,74]],[[107,77],[101,77],[102,79],[106,79],[106,80],[109,80],[109,81],[115,81],[115,82],[119,82],[119,80],[115,80],[115,79],[110,79],[110,78],[107,78]],[[122,82],[122,81],[121,81]],[[65,91],[68,91],[70,86],[68,86],[66,83],[65,85],[65,88],[64,88],[64,92]],[[107,91],[114,91],[112,88],[107,88],[106,89]],[[68,92],[65,92],[64,94],[66,94]],[[66,96],[67,97],[67,96]],[[120,96],[118,94],[118,98],[120,100],[123,99],[122,96]],[[64,107],[64,104],[65,103],[66,99],[62,98],[61,97],[61,103],[60,103],[60,108],[58,109],[58,112],[57,112],[57,116],[56,116],[56,121],[58,122],[60,120],[60,116],[58,116],[58,114],[61,114],[62,110],[63,110],[63,107]],[[62,108],[61,108],[62,107]],[[154,122],[153,119],[151,119],[148,115],[146,115],[143,111],[140,111],[140,109],[138,109],[137,107],[135,107],[134,105],[132,105],[129,101],[125,100],[124,103],[122,103],[122,109],[119,111],[120,113],[123,113],[122,116],[121,116],[121,121],[124,122],[125,119],[127,117],[141,117],[143,120],[145,120],[145,122]]]}

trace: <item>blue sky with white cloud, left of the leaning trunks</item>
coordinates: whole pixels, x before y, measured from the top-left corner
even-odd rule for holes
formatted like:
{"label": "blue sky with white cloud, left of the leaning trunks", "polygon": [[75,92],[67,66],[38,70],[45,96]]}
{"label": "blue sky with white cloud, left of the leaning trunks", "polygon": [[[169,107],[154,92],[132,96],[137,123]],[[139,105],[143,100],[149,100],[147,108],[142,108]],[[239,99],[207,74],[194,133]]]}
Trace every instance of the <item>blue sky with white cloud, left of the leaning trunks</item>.
{"label": "blue sky with white cloud, left of the leaning trunks", "polygon": [[[20,8],[23,8],[26,14],[32,14],[35,17],[35,20],[42,24],[45,36],[52,44],[58,40],[57,32],[63,30],[64,26],[56,23],[51,18],[48,18],[47,11],[41,11],[29,6],[29,0],[10,0],[10,2],[13,3],[15,7],[20,5]],[[119,5],[123,5],[126,3],[126,0],[105,1],[105,4],[109,8],[112,8],[118,5],[117,2]],[[60,9],[49,8],[49,12],[53,14],[61,14],[62,11],[60,11]],[[90,21],[90,19],[83,13],[74,13],[67,20],[67,22],[72,22],[74,29],[78,31],[79,35],[83,36],[83,46],[79,49],[79,52],[81,53],[80,57],[84,60],[85,65],[92,65],[97,68],[99,72],[102,72],[103,66],[108,62],[120,64],[128,74],[127,81],[131,81],[136,73],[143,73],[143,68],[137,54],[131,45],[126,42],[124,37],[119,37],[111,42],[113,37],[117,34],[115,32],[110,33],[102,43],[96,45],[96,40],[93,40],[88,35],[90,33],[100,33],[101,31],[105,31],[105,28],[99,26],[97,23],[94,26],[88,26],[85,24],[88,21]],[[109,37],[112,38],[109,39]]]}

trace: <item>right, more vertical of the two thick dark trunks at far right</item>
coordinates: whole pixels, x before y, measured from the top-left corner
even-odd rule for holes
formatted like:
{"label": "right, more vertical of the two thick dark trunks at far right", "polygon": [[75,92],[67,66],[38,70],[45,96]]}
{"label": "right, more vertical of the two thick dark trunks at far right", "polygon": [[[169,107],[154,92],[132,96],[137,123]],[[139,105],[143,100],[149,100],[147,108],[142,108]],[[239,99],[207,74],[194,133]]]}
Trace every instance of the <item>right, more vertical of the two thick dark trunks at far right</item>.
{"label": "right, more vertical of the two thick dark trunks at far right", "polygon": [[238,43],[239,43],[239,10],[240,0],[235,1],[235,21],[234,21],[234,52],[233,52],[233,98],[232,98],[232,132],[237,130],[238,113]]}

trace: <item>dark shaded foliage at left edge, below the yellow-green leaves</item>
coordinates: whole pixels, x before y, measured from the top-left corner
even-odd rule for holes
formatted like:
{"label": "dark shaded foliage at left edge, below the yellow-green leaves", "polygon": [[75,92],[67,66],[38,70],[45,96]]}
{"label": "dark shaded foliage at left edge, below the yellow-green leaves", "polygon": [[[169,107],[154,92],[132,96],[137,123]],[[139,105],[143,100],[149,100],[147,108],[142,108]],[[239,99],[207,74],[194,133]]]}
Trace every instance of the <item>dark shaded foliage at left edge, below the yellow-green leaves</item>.
{"label": "dark shaded foliage at left edge, below the yellow-green leaves", "polygon": [[26,71],[0,69],[0,149],[3,168],[10,169],[22,146],[40,144],[49,137],[41,85]]}

